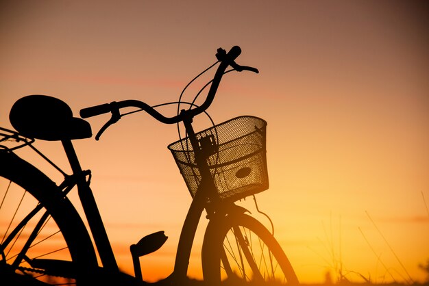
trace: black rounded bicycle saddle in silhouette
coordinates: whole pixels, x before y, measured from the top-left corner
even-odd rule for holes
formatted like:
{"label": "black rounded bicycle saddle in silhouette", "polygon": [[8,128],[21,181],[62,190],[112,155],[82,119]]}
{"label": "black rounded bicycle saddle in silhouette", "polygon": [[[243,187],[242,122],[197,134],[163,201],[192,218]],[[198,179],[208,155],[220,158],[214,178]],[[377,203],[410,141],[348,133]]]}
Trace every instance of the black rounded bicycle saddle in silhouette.
{"label": "black rounded bicycle saddle in silhouette", "polygon": [[47,95],[28,95],[10,109],[9,120],[14,129],[29,138],[48,141],[90,138],[91,127],[73,117],[69,105]]}

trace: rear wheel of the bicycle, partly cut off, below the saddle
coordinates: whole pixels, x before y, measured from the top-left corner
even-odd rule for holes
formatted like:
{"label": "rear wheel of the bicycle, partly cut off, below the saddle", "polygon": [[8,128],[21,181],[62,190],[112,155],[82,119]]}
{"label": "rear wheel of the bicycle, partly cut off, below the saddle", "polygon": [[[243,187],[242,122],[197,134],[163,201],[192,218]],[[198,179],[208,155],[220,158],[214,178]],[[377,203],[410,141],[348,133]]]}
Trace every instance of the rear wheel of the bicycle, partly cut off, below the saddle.
{"label": "rear wheel of the bicycle, partly cut off, below the saddle", "polygon": [[[70,200],[51,179],[14,153],[0,151],[0,162],[1,187],[8,188],[0,190],[2,282],[73,285],[86,280],[90,270],[97,268],[97,256],[84,222]],[[15,198],[17,211],[11,207]],[[26,212],[21,210],[23,207],[28,208]],[[5,222],[8,211],[12,220]]]}

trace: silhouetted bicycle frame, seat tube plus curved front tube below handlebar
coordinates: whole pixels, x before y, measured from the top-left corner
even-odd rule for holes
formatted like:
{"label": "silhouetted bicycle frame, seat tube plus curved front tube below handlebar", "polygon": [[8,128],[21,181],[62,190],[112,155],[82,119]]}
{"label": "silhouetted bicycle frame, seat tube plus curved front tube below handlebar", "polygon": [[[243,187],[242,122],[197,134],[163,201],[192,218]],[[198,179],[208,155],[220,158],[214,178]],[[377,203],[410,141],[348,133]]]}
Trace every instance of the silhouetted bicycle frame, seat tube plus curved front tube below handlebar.
{"label": "silhouetted bicycle frame, seat tube plus curved front tube below handlebar", "polygon": [[[207,209],[207,211],[213,211],[213,209],[217,209],[217,207],[215,206],[217,206],[219,203],[214,201],[210,206],[207,204],[208,196],[210,196],[210,198],[217,197],[215,195],[216,188],[215,183],[212,181],[210,170],[208,169],[208,165],[206,163],[204,150],[200,150],[197,147],[198,143],[191,122],[192,119],[188,118],[187,120],[184,120],[184,125],[186,128],[186,132],[188,133],[189,138],[191,140],[191,143],[193,144],[193,148],[196,151],[195,155],[197,157],[197,165],[199,166],[201,177],[203,179],[199,186],[199,191],[193,198],[191,206],[188,209],[188,213],[186,215],[184,224],[182,226],[182,231],[180,233],[180,239],[179,244],[177,246],[175,265],[173,270],[173,275],[175,276],[175,279],[186,278],[186,274],[188,271],[188,262],[191,256],[191,248],[195,238],[195,233],[197,231],[197,226],[199,224],[199,219],[201,218],[201,214],[203,213],[204,209]],[[114,257],[114,253],[112,251],[112,246],[110,245],[110,241],[108,239],[103,220],[101,219],[97,203],[93,196],[93,192],[90,189],[89,182],[86,181],[87,173],[82,170],[82,167],[79,164],[79,160],[77,158],[75,149],[73,148],[73,144],[71,143],[71,141],[62,140],[62,145],[64,147],[66,156],[69,159],[69,163],[73,171],[73,176],[75,176],[76,178],[75,181],[66,184],[66,187],[71,189],[73,185],[77,185],[79,199],[82,203],[86,219],[88,220],[89,230],[90,233],[93,235],[95,246],[97,248],[97,252],[99,253],[101,263],[103,267],[106,268],[106,270],[117,272],[119,271],[119,268],[117,265],[117,261]],[[66,183],[66,181],[64,181],[64,183]],[[214,208],[210,209],[212,205],[214,206]]]}

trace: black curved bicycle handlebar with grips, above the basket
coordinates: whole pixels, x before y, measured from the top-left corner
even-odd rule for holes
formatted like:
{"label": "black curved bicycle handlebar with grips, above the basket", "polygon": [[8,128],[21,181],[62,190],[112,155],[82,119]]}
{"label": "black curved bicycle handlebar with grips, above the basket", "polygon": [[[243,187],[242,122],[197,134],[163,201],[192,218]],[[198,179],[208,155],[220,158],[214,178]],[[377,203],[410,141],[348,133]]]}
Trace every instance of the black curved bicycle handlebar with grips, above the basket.
{"label": "black curved bicycle handlebar with grips, above the basket", "polygon": [[[215,99],[217,88],[219,87],[219,83],[221,81],[223,73],[225,73],[225,70],[226,68],[228,68],[228,66],[231,66],[232,68],[234,68],[234,70],[237,70],[239,72],[243,70],[249,70],[254,73],[259,73],[258,69],[256,68],[252,68],[250,66],[241,66],[239,64],[236,64],[234,60],[240,54],[241,54],[241,49],[238,46],[232,47],[232,49],[230,49],[228,53],[226,53],[224,49],[221,49],[221,48],[217,49],[216,57],[219,60],[220,64],[215,73],[215,77],[213,78],[212,84],[210,86],[210,90],[208,91],[207,98],[204,101],[204,103],[201,104],[199,107],[187,110],[186,116],[190,116],[192,118],[193,116],[197,116],[198,114],[201,114],[205,112],[206,109],[208,109],[213,99]],[[93,107],[87,107],[87,108],[81,109],[79,114],[82,118],[89,118],[89,117],[112,112],[112,118],[109,120],[109,122],[114,123],[119,120],[120,118],[119,109],[123,107],[138,107],[140,109],[143,109],[145,112],[147,112],[154,118],[156,118],[158,121],[166,124],[174,124],[177,122],[181,122],[182,120],[184,120],[184,117],[185,117],[184,114],[178,114],[173,117],[166,117],[160,114],[160,112],[157,112],[156,109],[154,109],[154,107],[151,107],[147,105],[147,103],[144,103],[138,100],[125,100],[125,101],[95,105]]]}

